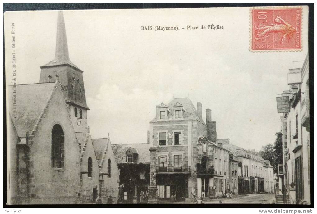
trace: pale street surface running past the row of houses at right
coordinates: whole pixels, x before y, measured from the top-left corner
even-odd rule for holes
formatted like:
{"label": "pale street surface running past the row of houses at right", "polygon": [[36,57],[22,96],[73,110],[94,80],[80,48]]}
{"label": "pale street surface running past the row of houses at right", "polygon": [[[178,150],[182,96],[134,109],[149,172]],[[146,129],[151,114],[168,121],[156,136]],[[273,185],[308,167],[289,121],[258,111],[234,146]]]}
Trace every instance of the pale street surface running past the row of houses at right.
{"label": "pale street surface running past the row of houses at right", "polygon": [[[213,199],[211,201],[203,201],[204,204],[275,204],[275,194],[249,194],[248,196],[235,196],[234,198]],[[193,202],[183,202],[192,204]]]}

